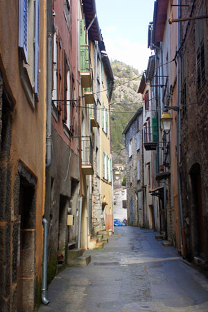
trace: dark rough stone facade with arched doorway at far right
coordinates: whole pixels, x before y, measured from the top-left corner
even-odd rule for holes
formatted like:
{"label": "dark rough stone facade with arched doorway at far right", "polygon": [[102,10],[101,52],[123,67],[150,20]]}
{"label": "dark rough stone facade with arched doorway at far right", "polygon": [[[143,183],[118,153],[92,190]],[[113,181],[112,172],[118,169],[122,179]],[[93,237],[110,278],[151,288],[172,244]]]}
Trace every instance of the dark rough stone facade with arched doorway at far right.
{"label": "dark rough stone facade with arched doorway at far right", "polygon": [[[188,1],[181,17],[208,14],[205,0]],[[208,19],[180,26],[182,214],[186,256],[208,261]]]}

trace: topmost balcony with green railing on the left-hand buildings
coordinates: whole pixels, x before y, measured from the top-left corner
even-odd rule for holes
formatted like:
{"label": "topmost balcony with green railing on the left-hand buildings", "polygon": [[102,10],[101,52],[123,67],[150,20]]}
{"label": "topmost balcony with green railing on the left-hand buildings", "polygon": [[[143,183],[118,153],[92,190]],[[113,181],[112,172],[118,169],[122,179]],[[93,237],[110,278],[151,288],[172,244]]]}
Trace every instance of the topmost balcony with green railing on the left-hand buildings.
{"label": "topmost balcony with green railing on the left-hand buildings", "polygon": [[89,46],[80,46],[80,73],[83,88],[92,87]]}

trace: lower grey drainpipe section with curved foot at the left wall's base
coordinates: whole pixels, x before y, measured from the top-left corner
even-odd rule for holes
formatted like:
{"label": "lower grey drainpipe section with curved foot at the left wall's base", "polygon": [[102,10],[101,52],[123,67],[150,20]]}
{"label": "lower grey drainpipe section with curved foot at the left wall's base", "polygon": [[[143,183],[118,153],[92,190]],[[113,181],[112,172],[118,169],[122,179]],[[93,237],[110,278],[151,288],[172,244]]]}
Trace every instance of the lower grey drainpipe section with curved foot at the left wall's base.
{"label": "lower grey drainpipe section with curved foot at the left wall's base", "polygon": [[47,292],[47,252],[48,252],[48,225],[49,222],[46,218],[42,219],[42,224],[44,227],[44,241],[43,241],[43,265],[42,265],[42,290],[41,290],[41,299],[42,303],[46,306],[50,303],[50,301],[46,298]]}

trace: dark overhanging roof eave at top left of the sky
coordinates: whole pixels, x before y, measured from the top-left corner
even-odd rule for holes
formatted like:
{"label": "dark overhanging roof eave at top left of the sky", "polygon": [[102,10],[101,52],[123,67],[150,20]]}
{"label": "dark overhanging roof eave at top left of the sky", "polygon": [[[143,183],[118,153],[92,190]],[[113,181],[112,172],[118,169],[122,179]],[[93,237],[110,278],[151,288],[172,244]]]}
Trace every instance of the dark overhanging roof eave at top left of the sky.
{"label": "dark overhanging roof eave at top left of the sky", "polygon": [[[83,12],[85,13],[86,28],[92,22],[96,15],[96,3],[95,0],[82,0]],[[98,24],[98,18],[94,20],[92,26],[89,28],[89,40],[101,41],[102,35],[100,26]]]}

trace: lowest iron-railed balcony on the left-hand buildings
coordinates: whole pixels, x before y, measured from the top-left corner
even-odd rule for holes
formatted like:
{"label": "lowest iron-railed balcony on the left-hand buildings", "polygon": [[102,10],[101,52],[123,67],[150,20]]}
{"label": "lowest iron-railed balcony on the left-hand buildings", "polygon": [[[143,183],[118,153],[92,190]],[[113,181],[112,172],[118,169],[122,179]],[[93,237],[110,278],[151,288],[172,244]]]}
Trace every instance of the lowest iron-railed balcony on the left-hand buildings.
{"label": "lowest iron-railed balcony on the left-hand buildings", "polygon": [[82,171],[84,175],[93,175],[92,142],[89,138],[82,138]]}

